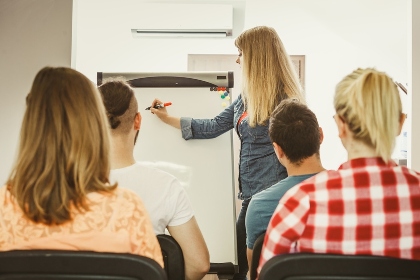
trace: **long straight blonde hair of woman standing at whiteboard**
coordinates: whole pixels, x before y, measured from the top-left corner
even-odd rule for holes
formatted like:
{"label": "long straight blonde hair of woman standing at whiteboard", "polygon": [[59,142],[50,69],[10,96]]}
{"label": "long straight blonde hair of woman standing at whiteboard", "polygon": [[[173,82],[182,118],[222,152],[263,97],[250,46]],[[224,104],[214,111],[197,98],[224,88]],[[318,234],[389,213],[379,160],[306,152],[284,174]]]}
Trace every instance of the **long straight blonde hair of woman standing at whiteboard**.
{"label": "long straight blonde hair of woman standing at whiteboard", "polygon": [[249,126],[266,125],[281,99],[296,98],[306,104],[294,65],[274,28],[245,30],[235,46],[242,52],[241,95]]}

